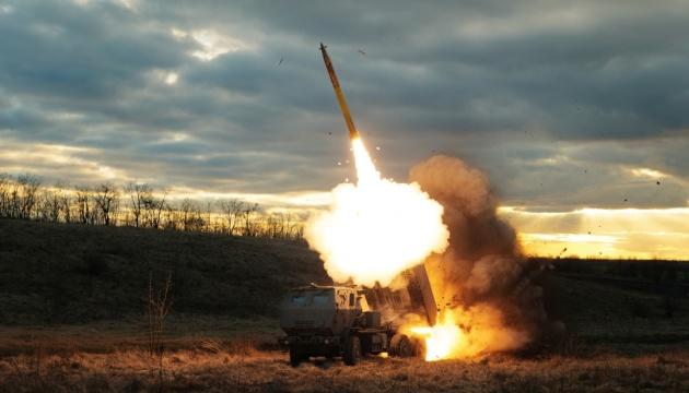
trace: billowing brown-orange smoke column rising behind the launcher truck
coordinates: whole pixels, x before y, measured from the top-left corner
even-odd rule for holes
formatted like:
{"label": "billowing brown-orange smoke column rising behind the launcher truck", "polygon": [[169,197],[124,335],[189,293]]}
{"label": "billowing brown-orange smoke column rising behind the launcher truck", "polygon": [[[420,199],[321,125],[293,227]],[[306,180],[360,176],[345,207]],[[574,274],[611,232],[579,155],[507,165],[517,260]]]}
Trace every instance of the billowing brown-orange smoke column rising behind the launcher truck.
{"label": "billowing brown-orange smoke column rising behind the launcher truck", "polygon": [[548,325],[536,283],[544,266],[521,257],[514,229],[497,215],[486,175],[460,159],[433,156],[416,165],[409,180],[443,205],[449,246],[425,265],[436,300],[467,336],[459,356],[537,340]]}

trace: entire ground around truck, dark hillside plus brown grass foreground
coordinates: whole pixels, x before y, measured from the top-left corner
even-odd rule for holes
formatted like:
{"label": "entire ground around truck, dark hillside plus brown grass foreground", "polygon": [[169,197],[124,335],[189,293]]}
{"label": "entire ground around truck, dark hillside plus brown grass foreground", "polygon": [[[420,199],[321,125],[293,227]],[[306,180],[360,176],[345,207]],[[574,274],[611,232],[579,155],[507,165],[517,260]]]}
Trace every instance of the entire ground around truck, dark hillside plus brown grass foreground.
{"label": "entire ground around truck, dark hillside plus brown grass foreground", "polygon": [[[277,301],[326,279],[305,245],[0,221],[0,391],[689,391],[689,263],[552,262],[548,307],[570,332],[559,346],[292,368]],[[161,378],[144,309],[151,274],[168,272]]]}

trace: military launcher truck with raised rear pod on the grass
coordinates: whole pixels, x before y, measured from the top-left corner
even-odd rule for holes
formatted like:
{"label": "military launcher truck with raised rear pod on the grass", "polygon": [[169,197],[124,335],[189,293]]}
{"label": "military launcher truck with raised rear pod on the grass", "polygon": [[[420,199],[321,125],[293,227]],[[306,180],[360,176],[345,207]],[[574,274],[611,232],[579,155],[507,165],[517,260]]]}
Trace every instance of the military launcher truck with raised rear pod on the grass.
{"label": "military launcher truck with raised rear pod on the grass", "polygon": [[399,289],[316,285],[292,289],[281,305],[280,325],[290,364],[310,357],[341,357],[355,365],[362,356],[424,356],[423,341],[399,331],[405,314],[435,323],[437,307],[423,265],[402,273]]}

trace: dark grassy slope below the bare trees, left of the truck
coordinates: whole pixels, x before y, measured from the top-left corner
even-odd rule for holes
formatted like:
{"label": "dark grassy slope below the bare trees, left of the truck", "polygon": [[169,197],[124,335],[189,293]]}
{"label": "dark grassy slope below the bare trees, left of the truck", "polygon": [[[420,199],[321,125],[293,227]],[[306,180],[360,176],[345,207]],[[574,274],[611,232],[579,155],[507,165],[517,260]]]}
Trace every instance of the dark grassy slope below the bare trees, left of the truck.
{"label": "dark grassy slope below the bare trees, left of the truck", "polygon": [[140,315],[167,272],[175,312],[220,317],[272,317],[287,288],[328,282],[299,242],[0,219],[0,324]]}

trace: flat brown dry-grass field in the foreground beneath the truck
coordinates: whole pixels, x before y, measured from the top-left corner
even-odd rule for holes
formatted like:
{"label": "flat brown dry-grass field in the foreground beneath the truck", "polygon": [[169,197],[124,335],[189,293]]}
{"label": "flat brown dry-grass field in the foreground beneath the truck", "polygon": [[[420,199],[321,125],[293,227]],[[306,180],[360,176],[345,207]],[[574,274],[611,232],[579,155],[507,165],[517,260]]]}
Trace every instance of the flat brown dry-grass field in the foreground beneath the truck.
{"label": "flat brown dry-grass field in the foreground beneath the truck", "polygon": [[0,326],[0,392],[689,392],[689,342],[630,332],[620,337],[631,342],[609,342],[616,331],[606,331],[529,356],[370,357],[355,367],[316,358],[293,368],[276,320],[173,317],[161,378],[138,319]]}

